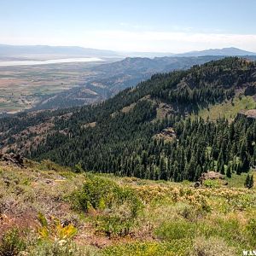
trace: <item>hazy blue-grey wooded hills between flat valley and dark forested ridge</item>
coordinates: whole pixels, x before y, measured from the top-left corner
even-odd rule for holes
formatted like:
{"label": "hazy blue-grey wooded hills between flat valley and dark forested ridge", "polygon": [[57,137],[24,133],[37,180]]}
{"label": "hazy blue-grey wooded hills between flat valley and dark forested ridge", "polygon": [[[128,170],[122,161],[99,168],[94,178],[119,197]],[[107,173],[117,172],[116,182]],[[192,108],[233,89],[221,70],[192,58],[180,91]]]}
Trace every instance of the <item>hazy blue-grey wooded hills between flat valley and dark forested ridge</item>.
{"label": "hazy blue-grey wooded hills between flat valley and dark forested ridge", "polygon": [[[102,102],[120,90],[149,79],[154,73],[187,69],[224,56],[125,58],[122,61],[84,68],[90,73],[78,87],[46,96],[34,109],[70,108]],[[253,56],[250,56],[253,58]]]}

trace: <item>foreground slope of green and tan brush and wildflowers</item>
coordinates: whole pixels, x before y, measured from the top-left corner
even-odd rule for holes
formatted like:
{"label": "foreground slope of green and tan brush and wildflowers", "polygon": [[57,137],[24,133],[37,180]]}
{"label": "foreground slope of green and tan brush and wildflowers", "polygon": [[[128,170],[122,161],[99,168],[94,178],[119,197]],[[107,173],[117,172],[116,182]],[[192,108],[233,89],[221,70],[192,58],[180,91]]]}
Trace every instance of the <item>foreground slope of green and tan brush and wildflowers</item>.
{"label": "foreground slope of green and tan brush and wildflowers", "polygon": [[0,255],[241,255],[256,247],[256,191],[232,174],[195,189],[0,162]]}

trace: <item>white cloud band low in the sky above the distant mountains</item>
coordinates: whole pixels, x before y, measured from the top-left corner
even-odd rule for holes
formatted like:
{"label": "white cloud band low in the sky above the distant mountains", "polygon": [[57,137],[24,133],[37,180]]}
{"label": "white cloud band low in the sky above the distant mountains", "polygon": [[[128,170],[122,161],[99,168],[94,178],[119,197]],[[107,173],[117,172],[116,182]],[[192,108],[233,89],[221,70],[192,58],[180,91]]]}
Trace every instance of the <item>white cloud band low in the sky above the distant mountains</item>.
{"label": "white cloud band low in the sky above the distant mountains", "polygon": [[98,49],[120,51],[162,51],[184,52],[209,48],[238,47],[256,51],[256,34],[223,34],[196,32],[156,32],[156,31],[58,31],[50,35],[42,32],[32,35],[2,37],[2,44],[50,44],[80,45]]}

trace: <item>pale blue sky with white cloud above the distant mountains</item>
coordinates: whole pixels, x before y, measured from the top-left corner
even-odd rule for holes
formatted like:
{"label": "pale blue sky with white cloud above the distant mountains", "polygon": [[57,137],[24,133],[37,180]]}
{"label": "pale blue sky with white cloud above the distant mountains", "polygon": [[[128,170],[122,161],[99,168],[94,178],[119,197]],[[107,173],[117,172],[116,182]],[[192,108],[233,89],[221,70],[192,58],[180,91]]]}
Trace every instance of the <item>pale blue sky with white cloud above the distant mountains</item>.
{"label": "pale blue sky with white cloud above the distant mountains", "polygon": [[0,0],[0,44],[256,52],[256,0]]}

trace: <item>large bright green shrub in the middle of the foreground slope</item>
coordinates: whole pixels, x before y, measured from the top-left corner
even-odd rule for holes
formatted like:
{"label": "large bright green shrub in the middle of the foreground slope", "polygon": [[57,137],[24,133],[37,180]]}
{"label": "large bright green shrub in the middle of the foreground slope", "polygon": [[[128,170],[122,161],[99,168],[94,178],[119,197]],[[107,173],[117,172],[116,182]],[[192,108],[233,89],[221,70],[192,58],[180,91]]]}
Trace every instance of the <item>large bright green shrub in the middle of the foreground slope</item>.
{"label": "large bright green shrub in the middle of the foreground slope", "polygon": [[96,218],[97,230],[108,236],[128,235],[143,207],[132,189],[101,177],[89,177],[73,199],[79,210],[95,209],[100,213]]}

